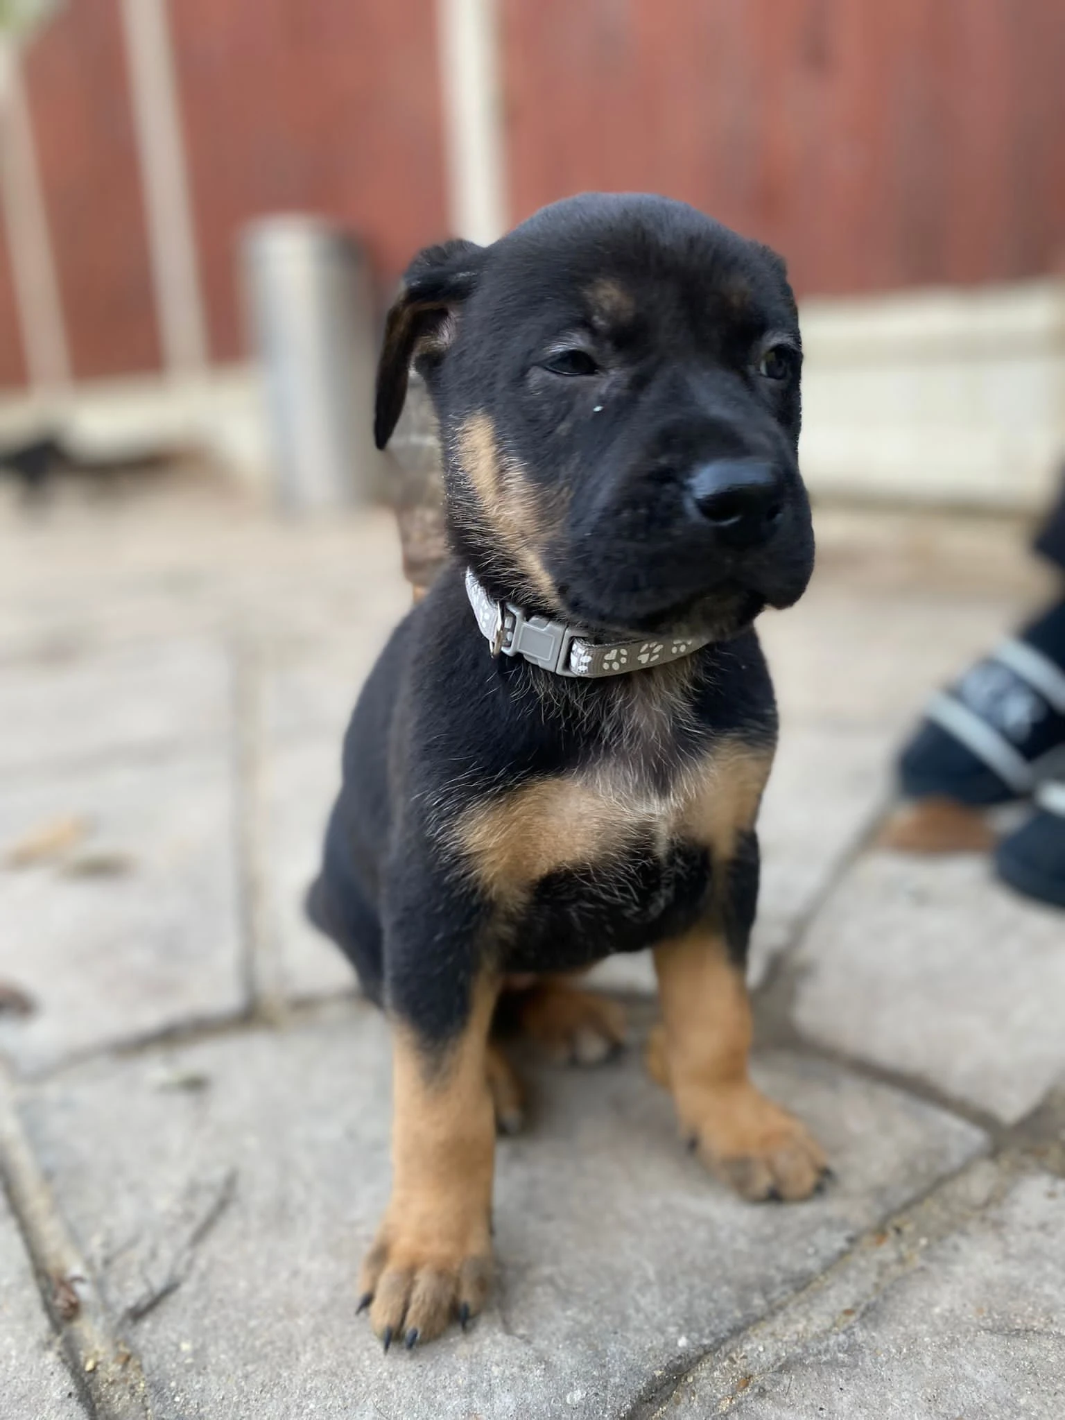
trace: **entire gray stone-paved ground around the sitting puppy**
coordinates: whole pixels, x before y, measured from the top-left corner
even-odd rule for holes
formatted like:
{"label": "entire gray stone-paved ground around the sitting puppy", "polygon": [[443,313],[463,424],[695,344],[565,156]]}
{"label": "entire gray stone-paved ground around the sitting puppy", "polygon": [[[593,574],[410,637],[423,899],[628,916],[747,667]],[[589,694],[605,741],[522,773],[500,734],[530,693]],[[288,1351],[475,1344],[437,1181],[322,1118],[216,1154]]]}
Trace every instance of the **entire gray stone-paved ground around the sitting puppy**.
{"label": "entire gray stone-paved ground around the sitting puppy", "polygon": [[302,922],[358,684],[406,606],[386,515],[209,486],[0,508],[0,1417],[1065,1413],[1065,917],[870,848],[924,694],[1039,594],[1020,532],[822,513],[765,619],[755,1072],[836,1181],[746,1206],[633,1045],[535,1059],[498,1282],[383,1358],[354,1278],[388,1042]]}

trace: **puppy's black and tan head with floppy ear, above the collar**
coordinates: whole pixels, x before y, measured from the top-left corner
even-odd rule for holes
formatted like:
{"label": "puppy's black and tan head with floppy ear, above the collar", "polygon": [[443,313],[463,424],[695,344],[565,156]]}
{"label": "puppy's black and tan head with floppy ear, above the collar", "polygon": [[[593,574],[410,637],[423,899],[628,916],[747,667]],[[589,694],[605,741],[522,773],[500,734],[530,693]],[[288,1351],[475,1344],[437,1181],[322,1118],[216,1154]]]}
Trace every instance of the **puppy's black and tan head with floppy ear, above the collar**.
{"label": "puppy's black and tan head with floppy ear, above the collar", "polygon": [[456,551],[488,591],[609,633],[728,636],[814,565],[784,263],[693,207],[586,195],[410,266],[378,375],[413,361]]}

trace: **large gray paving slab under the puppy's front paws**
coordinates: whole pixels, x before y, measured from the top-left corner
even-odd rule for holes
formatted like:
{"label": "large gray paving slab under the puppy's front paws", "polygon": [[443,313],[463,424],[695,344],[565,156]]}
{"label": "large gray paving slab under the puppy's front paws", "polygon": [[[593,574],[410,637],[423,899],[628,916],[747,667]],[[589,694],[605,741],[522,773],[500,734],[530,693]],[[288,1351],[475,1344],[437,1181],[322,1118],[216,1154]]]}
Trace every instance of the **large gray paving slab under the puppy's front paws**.
{"label": "large gray paving slab under the puppy's front paws", "polygon": [[[160,1088],[160,1068],[190,1088]],[[757,1208],[726,1193],[635,1052],[538,1069],[530,1133],[498,1150],[493,1302],[469,1335],[388,1358],[354,1291],[388,1194],[372,1008],[94,1062],[34,1091],[24,1118],[115,1315],[176,1278],[126,1322],[159,1420],[604,1420],[984,1147],[836,1069],[774,1056],[758,1075],[826,1145],[825,1197]]]}

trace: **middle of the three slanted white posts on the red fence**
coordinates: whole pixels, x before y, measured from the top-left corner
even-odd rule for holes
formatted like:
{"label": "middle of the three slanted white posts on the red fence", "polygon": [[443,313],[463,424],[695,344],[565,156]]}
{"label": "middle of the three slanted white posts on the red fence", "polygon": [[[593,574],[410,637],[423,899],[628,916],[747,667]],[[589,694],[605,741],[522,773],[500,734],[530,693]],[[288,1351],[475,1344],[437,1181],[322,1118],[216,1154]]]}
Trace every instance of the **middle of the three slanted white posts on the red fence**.
{"label": "middle of the three slanted white posts on the red fence", "polygon": [[122,24],[163,362],[196,375],[207,337],[166,0],[122,0]]}

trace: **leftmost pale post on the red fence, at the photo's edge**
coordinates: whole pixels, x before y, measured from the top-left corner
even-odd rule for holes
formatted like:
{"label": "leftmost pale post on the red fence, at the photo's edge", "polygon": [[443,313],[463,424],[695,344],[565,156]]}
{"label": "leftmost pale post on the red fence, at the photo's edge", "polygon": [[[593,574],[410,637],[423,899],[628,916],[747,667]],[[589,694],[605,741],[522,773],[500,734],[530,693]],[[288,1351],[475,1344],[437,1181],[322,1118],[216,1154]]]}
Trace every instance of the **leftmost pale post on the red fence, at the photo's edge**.
{"label": "leftmost pale post on the red fence, at the photo's edge", "polygon": [[0,190],[30,386],[70,383],[70,351],[18,51],[0,41]]}

